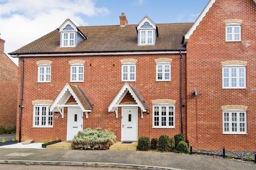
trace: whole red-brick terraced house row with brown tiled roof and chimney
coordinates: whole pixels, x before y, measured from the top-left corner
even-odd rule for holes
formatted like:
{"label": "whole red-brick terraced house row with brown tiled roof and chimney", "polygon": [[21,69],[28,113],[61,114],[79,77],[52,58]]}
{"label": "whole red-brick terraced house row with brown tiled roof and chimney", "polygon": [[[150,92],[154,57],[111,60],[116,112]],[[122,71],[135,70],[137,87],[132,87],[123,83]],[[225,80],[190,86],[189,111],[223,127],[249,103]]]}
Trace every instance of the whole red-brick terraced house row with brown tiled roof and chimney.
{"label": "whole red-brick terraced house row with brown tiled roof and chimney", "polygon": [[256,149],[255,1],[211,0],[195,23],[119,19],[67,19],[10,53],[20,58],[18,138],[99,127],[119,141],[183,133],[198,149]]}

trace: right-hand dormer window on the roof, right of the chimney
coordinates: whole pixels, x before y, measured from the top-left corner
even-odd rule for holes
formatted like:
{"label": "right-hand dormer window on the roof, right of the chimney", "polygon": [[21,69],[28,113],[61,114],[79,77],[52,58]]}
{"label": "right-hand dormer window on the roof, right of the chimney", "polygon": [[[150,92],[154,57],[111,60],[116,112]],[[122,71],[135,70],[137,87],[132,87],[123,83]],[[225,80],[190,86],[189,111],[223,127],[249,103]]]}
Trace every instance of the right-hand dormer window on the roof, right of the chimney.
{"label": "right-hand dormer window on the roof, right of the chimney", "polygon": [[137,26],[138,45],[155,45],[157,37],[156,24],[145,16]]}

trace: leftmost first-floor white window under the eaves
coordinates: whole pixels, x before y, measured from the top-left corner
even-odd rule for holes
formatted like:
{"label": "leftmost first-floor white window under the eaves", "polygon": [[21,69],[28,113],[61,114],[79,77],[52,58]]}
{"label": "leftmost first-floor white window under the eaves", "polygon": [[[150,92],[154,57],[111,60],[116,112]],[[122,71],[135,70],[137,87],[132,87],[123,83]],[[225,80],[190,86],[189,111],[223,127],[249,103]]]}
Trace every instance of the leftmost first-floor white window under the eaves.
{"label": "leftmost first-floor white window under the eaves", "polygon": [[38,66],[38,82],[51,82],[51,65],[41,64]]}

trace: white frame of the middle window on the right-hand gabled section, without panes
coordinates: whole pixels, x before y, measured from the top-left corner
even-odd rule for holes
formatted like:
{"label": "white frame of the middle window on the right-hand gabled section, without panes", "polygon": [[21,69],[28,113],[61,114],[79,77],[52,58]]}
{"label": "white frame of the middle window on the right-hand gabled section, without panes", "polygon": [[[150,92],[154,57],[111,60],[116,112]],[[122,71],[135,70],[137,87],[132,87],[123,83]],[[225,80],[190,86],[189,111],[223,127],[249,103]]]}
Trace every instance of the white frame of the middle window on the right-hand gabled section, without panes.
{"label": "white frame of the middle window on the right-hand gabled section, without panes", "polygon": [[[237,69],[237,72],[236,72],[236,87],[232,87],[232,75],[231,75],[231,70],[232,68],[236,68]],[[239,68],[244,68],[244,87],[240,87],[240,84],[239,84],[239,78],[243,78],[243,77],[239,77]],[[225,69],[229,69],[229,86],[228,87],[225,87],[224,85],[224,70]],[[239,65],[239,64],[230,64],[230,65],[225,65],[225,66],[222,66],[222,88],[223,89],[246,89],[246,66],[245,65]]]}

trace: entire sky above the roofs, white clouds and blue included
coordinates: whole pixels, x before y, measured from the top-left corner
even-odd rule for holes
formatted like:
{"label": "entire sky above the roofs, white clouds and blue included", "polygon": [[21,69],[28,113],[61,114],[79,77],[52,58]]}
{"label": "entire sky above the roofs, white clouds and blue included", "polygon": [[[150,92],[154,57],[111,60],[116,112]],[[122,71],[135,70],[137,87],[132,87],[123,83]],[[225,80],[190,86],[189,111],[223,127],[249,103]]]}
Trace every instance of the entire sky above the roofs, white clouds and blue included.
{"label": "entire sky above the roofs, white clouds and blue included", "polygon": [[145,15],[155,23],[194,22],[208,1],[0,0],[0,33],[5,53],[10,53],[59,28],[67,18],[77,26],[117,25],[124,12],[129,24]]}

